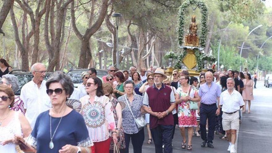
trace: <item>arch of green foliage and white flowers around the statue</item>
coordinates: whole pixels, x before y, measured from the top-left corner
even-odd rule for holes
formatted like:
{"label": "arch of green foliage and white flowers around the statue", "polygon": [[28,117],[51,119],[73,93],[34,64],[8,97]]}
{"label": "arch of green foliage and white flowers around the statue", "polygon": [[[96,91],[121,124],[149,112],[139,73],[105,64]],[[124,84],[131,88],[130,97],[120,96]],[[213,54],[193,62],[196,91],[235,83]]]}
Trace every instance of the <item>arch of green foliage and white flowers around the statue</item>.
{"label": "arch of green foliage and white flowers around the statue", "polygon": [[178,40],[179,40],[179,45],[182,45],[183,43],[183,28],[184,28],[184,14],[188,6],[190,5],[196,5],[201,9],[201,32],[200,32],[200,45],[202,47],[205,46],[206,39],[207,39],[207,32],[208,32],[208,26],[207,26],[207,19],[208,19],[208,10],[204,2],[198,1],[198,0],[187,0],[185,1],[180,7],[179,7],[179,12],[178,12],[178,20],[179,20],[179,25],[178,25]]}

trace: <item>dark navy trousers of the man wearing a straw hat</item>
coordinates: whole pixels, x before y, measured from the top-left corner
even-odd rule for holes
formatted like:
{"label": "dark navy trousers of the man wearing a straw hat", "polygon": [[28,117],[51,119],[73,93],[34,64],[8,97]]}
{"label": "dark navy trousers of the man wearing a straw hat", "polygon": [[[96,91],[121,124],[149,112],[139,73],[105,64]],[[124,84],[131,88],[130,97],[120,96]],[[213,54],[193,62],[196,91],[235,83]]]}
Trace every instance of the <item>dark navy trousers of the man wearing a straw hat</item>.
{"label": "dark navy trousers of the man wearing a straw hat", "polygon": [[[155,153],[172,153],[172,132],[173,125],[158,125],[150,129],[155,144]],[[164,143],[164,149],[163,149]],[[163,151],[164,150],[164,151]]]}

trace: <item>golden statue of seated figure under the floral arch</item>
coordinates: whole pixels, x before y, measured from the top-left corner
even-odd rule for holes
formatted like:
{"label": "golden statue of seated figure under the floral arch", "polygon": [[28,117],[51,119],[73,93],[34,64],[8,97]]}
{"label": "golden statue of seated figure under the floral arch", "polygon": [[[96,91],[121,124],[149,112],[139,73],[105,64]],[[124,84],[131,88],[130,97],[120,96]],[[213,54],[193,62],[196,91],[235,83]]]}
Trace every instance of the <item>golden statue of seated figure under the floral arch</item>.
{"label": "golden statue of seated figure under the floral arch", "polygon": [[192,16],[192,22],[189,25],[189,33],[185,36],[185,46],[198,46],[198,24],[196,23],[196,15]]}

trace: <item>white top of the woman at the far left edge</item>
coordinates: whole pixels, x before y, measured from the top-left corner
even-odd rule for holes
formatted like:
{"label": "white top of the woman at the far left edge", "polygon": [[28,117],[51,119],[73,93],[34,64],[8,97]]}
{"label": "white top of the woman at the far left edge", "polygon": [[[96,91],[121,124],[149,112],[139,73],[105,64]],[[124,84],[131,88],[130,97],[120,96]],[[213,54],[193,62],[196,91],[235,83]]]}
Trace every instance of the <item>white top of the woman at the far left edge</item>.
{"label": "white top of the woman at the far left edge", "polygon": [[[14,134],[22,135],[22,128],[19,121],[19,112],[14,113],[14,118],[5,127],[0,127],[0,142],[14,138]],[[1,153],[17,153],[16,145],[9,143],[4,146],[0,145]]]}

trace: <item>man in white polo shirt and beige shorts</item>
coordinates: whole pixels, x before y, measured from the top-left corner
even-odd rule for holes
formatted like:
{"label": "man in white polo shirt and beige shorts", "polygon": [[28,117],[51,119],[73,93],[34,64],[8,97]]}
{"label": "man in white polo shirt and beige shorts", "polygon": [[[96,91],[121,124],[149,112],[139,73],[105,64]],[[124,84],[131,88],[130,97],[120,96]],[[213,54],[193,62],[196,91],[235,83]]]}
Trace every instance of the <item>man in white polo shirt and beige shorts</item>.
{"label": "man in white polo shirt and beige shorts", "polygon": [[234,144],[236,142],[236,131],[239,129],[239,110],[244,106],[244,100],[240,92],[234,90],[234,79],[227,79],[227,90],[220,96],[220,105],[222,106],[222,125],[223,130],[227,131],[229,147],[227,151],[236,153]]}

